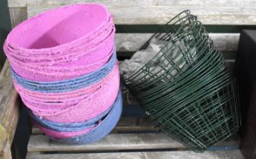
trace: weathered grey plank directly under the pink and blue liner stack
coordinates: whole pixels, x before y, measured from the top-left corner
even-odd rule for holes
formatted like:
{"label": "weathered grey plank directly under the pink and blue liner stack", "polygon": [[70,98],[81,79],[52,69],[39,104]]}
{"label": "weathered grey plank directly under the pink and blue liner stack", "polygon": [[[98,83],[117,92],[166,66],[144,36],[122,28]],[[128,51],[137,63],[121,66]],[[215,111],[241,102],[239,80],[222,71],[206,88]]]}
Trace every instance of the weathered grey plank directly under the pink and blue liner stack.
{"label": "weathered grey plank directly under the pink and blue liner stack", "polygon": [[[218,146],[237,146],[239,137],[234,136]],[[185,148],[184,145],[163,133],[109,134],[99,142],[90,145],[65,145],[43,135],[31,136],[27,151],[122,151],[163,148]]]}

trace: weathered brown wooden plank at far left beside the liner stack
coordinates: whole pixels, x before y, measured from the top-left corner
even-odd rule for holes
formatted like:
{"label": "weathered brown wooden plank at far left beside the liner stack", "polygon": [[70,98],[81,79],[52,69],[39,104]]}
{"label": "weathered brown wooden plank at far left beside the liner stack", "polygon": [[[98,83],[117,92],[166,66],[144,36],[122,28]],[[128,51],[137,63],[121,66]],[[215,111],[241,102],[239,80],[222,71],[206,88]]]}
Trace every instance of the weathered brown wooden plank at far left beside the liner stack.
{"label": "weathered brown wooden plank at far left beside the liner stack", "polygon": [[0,74],[0,154],[11,145],[19,118],[19,98],[14,90],[8,61]]}

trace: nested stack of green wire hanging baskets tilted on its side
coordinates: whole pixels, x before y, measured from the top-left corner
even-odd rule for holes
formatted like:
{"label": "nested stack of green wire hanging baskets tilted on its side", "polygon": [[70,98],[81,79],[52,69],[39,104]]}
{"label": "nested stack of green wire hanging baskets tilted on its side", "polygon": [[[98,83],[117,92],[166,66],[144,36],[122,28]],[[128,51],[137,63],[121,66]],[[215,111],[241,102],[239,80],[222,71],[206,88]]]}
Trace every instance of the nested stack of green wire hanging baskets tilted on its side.
{"label": "nested stack of green wire hanging baskets tilted on its side", "polygon": [[199,152],[235,133],[241,125],[236,83],[197,17],[183,11],[141,49],[152,39],[166,45],[122,81],[154,126]]}

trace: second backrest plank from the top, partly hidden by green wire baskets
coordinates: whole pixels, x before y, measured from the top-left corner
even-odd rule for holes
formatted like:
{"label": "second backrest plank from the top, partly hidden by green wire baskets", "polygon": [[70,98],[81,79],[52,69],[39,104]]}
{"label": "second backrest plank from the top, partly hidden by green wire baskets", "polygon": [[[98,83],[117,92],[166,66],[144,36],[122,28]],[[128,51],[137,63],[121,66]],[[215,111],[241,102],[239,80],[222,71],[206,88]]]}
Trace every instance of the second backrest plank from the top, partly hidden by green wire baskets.
{"label": "second backrest plank from the top, partly hidden by green wire baskets", "polygon": [[[117,51],[137,51],[152,35],[151,33],[117,33],[115,34]],[[210,38],[220,51],[236,51],[239,36],[239,33],[210,33]]]}

